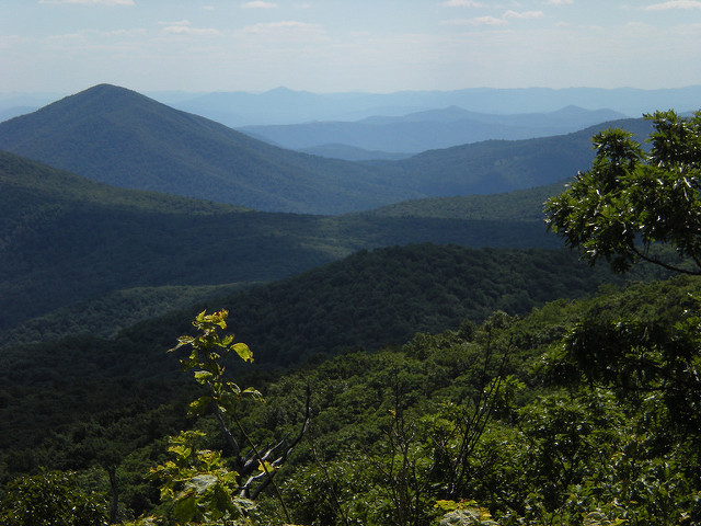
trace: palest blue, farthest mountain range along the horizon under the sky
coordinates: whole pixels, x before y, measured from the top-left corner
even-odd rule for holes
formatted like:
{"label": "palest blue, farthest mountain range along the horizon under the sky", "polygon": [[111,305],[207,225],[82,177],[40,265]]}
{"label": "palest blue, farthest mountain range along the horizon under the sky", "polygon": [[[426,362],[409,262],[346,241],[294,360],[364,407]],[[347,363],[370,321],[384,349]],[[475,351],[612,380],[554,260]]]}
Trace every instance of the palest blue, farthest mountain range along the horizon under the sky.
{"label": "palest blue, farthest mountain range along the horizon under the sky", "polygon": [[[360,121],[377,115],[459,106],[492,114],[550,113],[571,105],[586,110],[610,108],[629,117],[655,110],[696,110],[701,87],[640,90],[620,88],[489,89],[456,91],[401,91],[395,93],[311,93],[277,88],[264,93],[218,92],[187,98],[184,93],[153,93],[173,107],[211,118],[231,127],[299,124],[312,121]],[[374,148],[375,149],[375,148]]]}

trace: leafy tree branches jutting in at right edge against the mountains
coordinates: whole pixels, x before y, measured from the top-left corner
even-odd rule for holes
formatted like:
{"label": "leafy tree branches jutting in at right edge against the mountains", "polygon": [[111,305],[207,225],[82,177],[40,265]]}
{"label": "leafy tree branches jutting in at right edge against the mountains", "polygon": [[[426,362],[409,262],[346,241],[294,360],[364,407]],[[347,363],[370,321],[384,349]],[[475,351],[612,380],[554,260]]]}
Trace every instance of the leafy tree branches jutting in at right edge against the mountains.
{"label": "leafy tree branches jutting in at right edge against the mountains", "polygon": [[[641,259],[701,274],[701,111],[645,118],[650,152],[622,129],[595,135],[591,168],[547,202],[547,222],[591,263],[602,256],[623,272]],[[656,255],[658,243],[680,260]]]}

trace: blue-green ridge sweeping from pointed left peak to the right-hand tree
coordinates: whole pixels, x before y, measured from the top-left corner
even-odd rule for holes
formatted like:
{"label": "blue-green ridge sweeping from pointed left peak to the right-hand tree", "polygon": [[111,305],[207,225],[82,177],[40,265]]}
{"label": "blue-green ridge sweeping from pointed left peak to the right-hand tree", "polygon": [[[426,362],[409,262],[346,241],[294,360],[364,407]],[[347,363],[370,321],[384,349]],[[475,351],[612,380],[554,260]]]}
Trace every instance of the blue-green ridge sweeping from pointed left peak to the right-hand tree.
{"label": "blue-green ridge sweeping from pointed left peak to the right-hand tree", "polygon": [[[647,123],[614,123],[646,134]],[[407,199],[491,194],[564,181],[590,137],[486,141],[382,162],[285,150],[136,92],[101,84],[0,123],[0,149],[116,186],[263,211],[342,214]]]}

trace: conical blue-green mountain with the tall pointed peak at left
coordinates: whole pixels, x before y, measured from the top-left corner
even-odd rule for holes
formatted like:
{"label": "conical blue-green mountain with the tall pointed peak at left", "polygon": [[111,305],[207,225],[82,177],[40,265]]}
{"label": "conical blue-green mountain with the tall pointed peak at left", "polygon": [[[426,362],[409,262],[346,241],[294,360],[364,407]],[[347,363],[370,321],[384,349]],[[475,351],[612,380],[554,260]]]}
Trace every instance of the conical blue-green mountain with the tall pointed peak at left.
{"label": "conical blue-green mountain with the tall pointed peak at left", "polygon": [[0,149],[120,187],[267,211],[337,214],[420,196],[368,167],[276,148],[108,84],[1,123]]}

